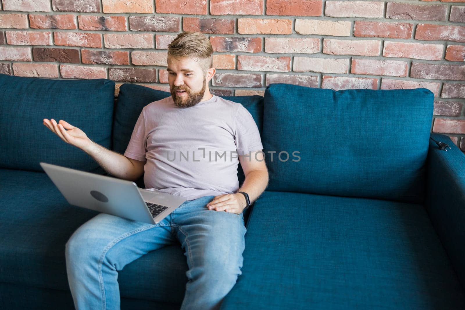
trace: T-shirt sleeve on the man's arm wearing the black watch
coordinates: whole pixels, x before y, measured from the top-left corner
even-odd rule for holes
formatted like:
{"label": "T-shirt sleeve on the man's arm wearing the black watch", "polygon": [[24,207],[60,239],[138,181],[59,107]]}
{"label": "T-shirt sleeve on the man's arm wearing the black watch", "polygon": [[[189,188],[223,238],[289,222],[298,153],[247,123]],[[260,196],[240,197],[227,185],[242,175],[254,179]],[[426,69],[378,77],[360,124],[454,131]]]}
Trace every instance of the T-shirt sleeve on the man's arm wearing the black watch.
{"label": "T-shirt sleeve on the man's arm wearing the black watch", "polygon": [[263,150],[257,124],[252,114],[241,104],[239,104],[239,111],[235,119],[234,142],[239,155]]}

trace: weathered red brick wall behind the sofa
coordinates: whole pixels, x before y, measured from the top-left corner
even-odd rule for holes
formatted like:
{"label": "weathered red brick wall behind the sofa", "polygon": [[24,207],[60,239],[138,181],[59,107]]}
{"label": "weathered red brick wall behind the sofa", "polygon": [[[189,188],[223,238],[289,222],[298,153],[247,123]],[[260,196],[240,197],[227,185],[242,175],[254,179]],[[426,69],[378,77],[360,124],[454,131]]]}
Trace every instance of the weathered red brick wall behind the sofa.
{"label": "weathered red brick wall behind the sofa", "polygon": [[435,94],[432,132],[465,152],[465,0],[1,0],[0,73],[168,90],[166,48],[210,38],[218,95],[282,82]]}

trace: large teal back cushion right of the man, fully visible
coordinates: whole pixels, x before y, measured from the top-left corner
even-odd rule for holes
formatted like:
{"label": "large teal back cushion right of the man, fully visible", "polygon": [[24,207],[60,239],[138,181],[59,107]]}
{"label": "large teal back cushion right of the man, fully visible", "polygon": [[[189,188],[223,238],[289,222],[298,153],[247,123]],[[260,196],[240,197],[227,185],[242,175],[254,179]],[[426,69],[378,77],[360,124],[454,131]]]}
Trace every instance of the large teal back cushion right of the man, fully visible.
{"label": "large teal back cushion right of the man, fully visible", "polygon": [[267,190],[422,202],[433,98],[425,88],[267,86]]}

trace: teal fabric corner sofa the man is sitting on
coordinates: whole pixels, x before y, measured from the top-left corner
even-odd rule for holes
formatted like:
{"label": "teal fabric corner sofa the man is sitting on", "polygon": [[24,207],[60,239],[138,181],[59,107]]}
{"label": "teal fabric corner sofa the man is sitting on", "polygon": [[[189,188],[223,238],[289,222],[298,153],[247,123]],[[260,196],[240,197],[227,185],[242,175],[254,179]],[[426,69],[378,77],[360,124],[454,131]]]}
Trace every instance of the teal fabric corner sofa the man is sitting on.
{"label": "teal fabric corner sofa the man is sitting on", "polygon": [[[0,74],[0,309],[73,309],[65,243],[98,213],[68,204],[39,162],[106,172],[42,119],[123,153],[142,108],[169,93],[113,92],[107,79]],[[245,211],[222,310],[465,309],[465,156],[430,133],[431,91],[271,84],[226,98],[256,121],[270,182]],[[140,257],[119,273],[121,308],[179,309],[186,271],[177,245]]]}

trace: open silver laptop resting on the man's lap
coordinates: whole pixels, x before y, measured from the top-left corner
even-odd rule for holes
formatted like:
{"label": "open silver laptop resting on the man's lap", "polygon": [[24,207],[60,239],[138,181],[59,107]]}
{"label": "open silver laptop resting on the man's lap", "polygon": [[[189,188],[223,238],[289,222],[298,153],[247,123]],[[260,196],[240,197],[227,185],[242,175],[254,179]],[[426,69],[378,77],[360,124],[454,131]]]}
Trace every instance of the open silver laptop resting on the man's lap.
{"label": "open silver laptop resting on the man's lap", "polygon": [[137,187],[132,181],[40,162],[69,204],[157,224],[186,199]]}

